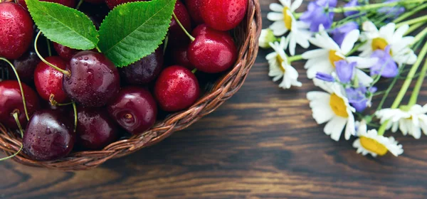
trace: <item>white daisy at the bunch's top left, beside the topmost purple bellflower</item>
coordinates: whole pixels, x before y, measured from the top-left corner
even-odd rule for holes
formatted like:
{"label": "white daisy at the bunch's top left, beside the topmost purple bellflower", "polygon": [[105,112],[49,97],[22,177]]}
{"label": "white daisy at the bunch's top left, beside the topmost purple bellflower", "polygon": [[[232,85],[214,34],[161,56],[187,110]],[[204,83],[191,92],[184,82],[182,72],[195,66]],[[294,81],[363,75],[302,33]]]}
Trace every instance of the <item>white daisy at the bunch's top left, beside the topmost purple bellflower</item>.
{"label": "white daisy at the bunch's top left, beside the topmost purple bellflower", "polygon": [[302,21],[297,21],[293,15],[295,10],[298,9],[302,0],[296,0],[291,4],[290,0],[279,0],[280,4],[270,4],[270,9],[273,12],[267,14],[270,21],[275,21],[271,24],[270,28],[273,30],[275,36],[283,36],[289,32],[286,38],[286,45],[289,45],[290,55],[295,55],[296,44],[301,45],[302,48],[310,47],[308,38],[311,37],[311,32],[308,30],[310,26]]}

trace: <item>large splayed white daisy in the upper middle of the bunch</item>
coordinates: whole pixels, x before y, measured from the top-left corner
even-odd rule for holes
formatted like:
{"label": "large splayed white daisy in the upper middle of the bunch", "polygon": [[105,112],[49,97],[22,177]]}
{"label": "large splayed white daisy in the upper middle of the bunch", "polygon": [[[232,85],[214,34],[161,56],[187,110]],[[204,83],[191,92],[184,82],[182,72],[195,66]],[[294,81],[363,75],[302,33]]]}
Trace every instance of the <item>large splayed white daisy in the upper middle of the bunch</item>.
{"label": "large splayed white daisy in the upper middle of the bunch", "polygon": [[304,66],[307,69],[307,77],[312,79],[316,77],[317,72],[331,74],[335,71],[337,61],[346,60],[349,63],[357,63],[354,76],[359,79],[362,85],[370,85],[373,79],[362,69],[370,68],[372,63],[376,63],[378,59],[346,56],[359,39],[359,34],[359,30],[350,31],[342,41],[342,45],[339,46],[321,26],[320,33],[317,33],[314,38],[310,38],[310,43],[320,47],[320,49],[309,50],[302,54],[302,58],[307,60]]}

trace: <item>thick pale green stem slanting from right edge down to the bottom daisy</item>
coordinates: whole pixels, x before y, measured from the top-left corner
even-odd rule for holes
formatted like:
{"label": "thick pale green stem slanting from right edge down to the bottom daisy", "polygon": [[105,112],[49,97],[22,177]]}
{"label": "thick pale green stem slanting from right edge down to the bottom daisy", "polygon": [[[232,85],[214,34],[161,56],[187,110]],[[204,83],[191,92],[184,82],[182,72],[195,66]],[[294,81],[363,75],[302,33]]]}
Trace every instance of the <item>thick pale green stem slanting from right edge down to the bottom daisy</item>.
{"label": "thick pale green stem slanting from right edge down to the bottom daisy", "polygon": [[[423,61],[426,55],[427,55],[427,44],[424,44],[423,49],[421,49],[421,52],[418,55],[418,59],[416,60],[416,63],[412,65],[411,70],[409,70],[408,76],[406,76],[404,85],[402,85],[401,90],[399,91],[399,94],[397,95],[396,99],[394,99],[393,104],[391,104],[391,109],[396,109],[397,107],[399,107],[399,104],[401,103],[402,99],[404,99],[405,97],[406,91],[408,91],[409,85],[411,85],[411,82],[416,73],[416,70],[418,70],[418,67],[421,65],[421,62]],[[381,124],[381,127],[379,127],[378,134],[380,136],[384,135],[387,124],[389,124],[389,120]]]}

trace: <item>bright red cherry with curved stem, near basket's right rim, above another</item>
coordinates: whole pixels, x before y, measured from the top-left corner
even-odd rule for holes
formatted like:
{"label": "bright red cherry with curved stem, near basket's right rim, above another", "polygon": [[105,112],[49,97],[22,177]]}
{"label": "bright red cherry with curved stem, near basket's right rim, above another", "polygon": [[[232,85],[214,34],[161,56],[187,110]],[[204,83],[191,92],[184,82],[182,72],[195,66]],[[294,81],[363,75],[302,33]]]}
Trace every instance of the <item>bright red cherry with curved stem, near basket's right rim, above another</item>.
{"label": "bright red cherry with curved stem, near basket's right rim, above another", "polygon": [[233,38],[221,31],[201,29],[187,51],[190,63],[197,70],[208,73],[223,72],[231,68],[237,59]]}

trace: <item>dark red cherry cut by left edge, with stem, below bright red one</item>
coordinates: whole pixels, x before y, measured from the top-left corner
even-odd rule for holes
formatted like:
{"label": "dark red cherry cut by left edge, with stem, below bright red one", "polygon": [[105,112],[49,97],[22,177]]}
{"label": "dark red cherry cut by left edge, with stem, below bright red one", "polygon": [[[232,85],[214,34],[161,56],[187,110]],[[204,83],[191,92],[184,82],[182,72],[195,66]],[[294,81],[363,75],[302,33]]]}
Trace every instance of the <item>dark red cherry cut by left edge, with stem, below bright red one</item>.
{"label": "dark red cherry cut by left edge, with stem, below bright red one", "polygon": [[[31,116],[38,107],[38,97],[28,85],[22,84],[23,93],[26,101],[28,115]],[[23,108],[21,89],[16,80],[4,80],[0,82],[0,123],[11,129],[17,129],[16,121],[12,114],[18,113],[19,123],[22,127],[27,124],[25,110]]]}

